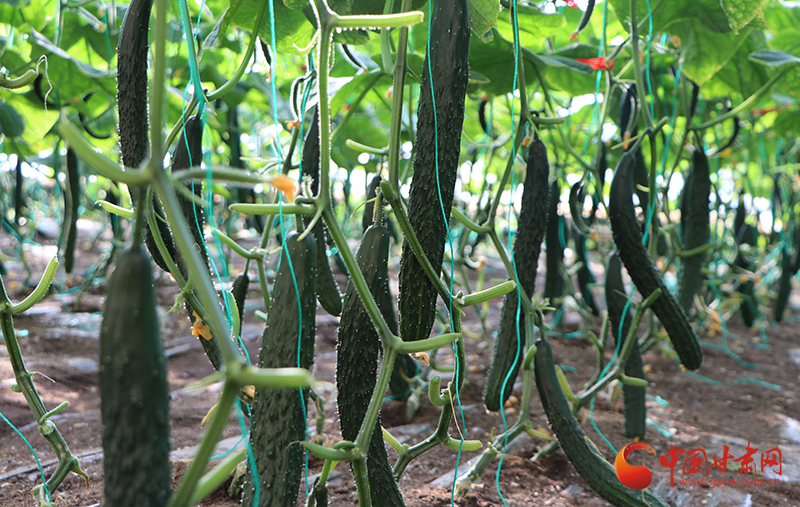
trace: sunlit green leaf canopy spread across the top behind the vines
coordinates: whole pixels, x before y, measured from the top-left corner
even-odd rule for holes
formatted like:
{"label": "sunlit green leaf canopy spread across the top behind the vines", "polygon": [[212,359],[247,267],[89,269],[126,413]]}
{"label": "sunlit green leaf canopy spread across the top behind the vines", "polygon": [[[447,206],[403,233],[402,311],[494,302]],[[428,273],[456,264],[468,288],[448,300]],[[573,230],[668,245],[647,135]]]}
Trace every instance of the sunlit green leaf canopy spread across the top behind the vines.
{"label": "sunlit green leaf canopy spread across the top behind the vines", "polygon": [[[398,12],[400,3],[392,2],[391,10]],[[471,82],[462,159],[474,163],[477,154],[482,153],[482,149],[485,152],[486,136],[477,121],[478,103],[484,96],[491,99],[492,135],[496,139],[499,136],[500,140],[509,139],[512,104],[516,108],[515,116],[519,112],[519,92],[513,90],[518,59],[527,85],[529,108],[540,111],[543,116],[567,116],[561,125],[542,127],[559,170],[581,173],[594,159],[599,133],[603,132],[603,141],[619,142],[619,133],[613,128],[618,121],[616,104],[621,88],[634,81],[632,48],[627,42],[632,3],[628,0],[609,0],[608,5],[598,2],[590,22],[573,41],[570,34],[580,23],[587,7],[585,1],[570,3],[571,6],[560,0],[514,5],[519,13],[519,47],[514,44],[514,26],[509,15],[511,3],[507,0],[470,1]],[[208,93],[222,86],[243,63],[262,6],[268,4],[256,0],[189,3],[196,32],[199,75]],[[120,3],[67,2],[59,8],[54,0],[0,2],[1,71],[8,77],[15,77],[29,69],[38,69],[41,75],[31,85],[0,91],[4,153],[20,153],[43,166],[51,166],[47,154],[57,144],[56,137],[51,135],[56,111],[68,106],[74,120],[88,125],[103,137],[108,136],[93,142],[112,159],[118,158],[116,45],[126,7]],[[377,0],[337,0],[330,2],[330,7],[340,14],[380,14],[386,10],[384,3]],[[642,65],[649,68],[645,75],[645,104],[655,120],[670,119],[664,133],[677,132],[685,125],[690,83],[700,87],[695,123],[712,119],[763,91],[752,107],[739,112],[738,118],[745,128],[738,149],[724,153],[719,163],[733,166],[736,173],[742,175],[783,163],[779,159],[791,150],[793,139],[800,133],[797,115],[800,7],[797,3],[639,0],[635,7]],[[427,3],[414,0],[411,8],[427,15]],[[169,65],[165,83],[168,111],[163,125],[166,131],[176,125],[194,93],[189,52],[179,22],[179,2],[170,2],[168,9]],[[313,80],[307,81],[312,83],[308,92],[300,95],[304,100],[292,97],[293,82],[309,75],[317,60],[311,51],[315,17],[310,4],[275,0],[272,17],[274,24],[269,15],[263,16],[256,33],[269,46],[274,26],[276,47],[270,50],[274,67],[267,64],[262,46],[256,44],[251,60],[245,62],[247,68],[241,81],[220,100],[208,104],[204,141],[210,157],[207,161],[226,163],[228,160],[230,148],[224,142],[227,133],[224,115],[220,113],[236,107],[245,140],[243,156],[248,165],[257,170],[277,167],[272,139],[280,131],[281,143],[289,143],[291,132],[285,127],[286,122],[298,119],[293,100],[295,104],[304,103],[307,110],[316,101]],[[392,51],[397,43],[396,32],[393,30],[390,34]],[[335,40],[348,43],[350,55],[364,68],[354,66],[342,49],[335,47],[330,83],[334,128],[332,158],[339,167],[374,172],[380,157],[363,156],[345,143],[352,139],[376,149],[388,144],[392,80],[381,69],[380,34],[378,31],[351,31],[337,34]],[[405,141],[413,141],[409,129],[413,128],[413,123],[409,120],[415,112],[414,100],[418,97],[426,43],[427,23],[414,26],[408,64],[411,73],[406,81],[411,116],[407,113],[404,121]],[[613,56],[614,67],[609,71],[595,71],[578,61],[610,56]],[[770,79],[782,71],[785,75],[769,84]],[[611,76],[605,76],[606,72]],[[271,95],[273,73],[276,104]],[[516,75],[517,83],[521,74]],[[608,82],[614,83],[615,89],[610,96],[605,126],[601,126],[602,98]],[[769,84],[766,90],[763,89],[765,84]],[[304,86],[297,89],[306,91]],[[279,127],[273,125],[273,112],[277,113]],[[347,121],[343,123],[345,117]],[[24,120],[23,129],[19,128],[19,119]],[[305,119],[300,125],[304,129],[310,116]],[[341,128],[337,129],[339,125]],[[727,138],[731,129],[729,122],[714,125],[704,131],[704,141],[713,146]],[[504,146],[511,148],[511,141],[507,140]],[[611,150],[610,163],[615,162],[618,154]],[[758,164],[758,167],[736,165],[743,162]],[[485,173],[497,174],[501,170],[500,158],[486,161]],[[410,170],[404,174],[408,176]],[[472,177],[482,181],[483,174]],[[463,183],[467,189],[478,184],[469,179]],[[753,190],[760,192],[758,186]]]}

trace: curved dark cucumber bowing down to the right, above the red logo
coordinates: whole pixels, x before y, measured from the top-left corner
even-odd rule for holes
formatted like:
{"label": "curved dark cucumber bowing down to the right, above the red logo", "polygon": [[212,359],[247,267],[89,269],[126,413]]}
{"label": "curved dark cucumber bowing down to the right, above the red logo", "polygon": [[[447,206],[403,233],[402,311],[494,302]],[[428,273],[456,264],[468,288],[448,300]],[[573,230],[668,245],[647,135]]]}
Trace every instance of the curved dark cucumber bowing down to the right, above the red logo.
{"label": "curved dark cucumber bowing down to the right, above the red logo", "polygon": [[656,289],[661,289],[661,295],[651,308],[664,325],[683,366],[689,370],[696,370],[703,362],[700,342],[692,329],[689,318],[667,289],[661,275],[653,266],[647,249],[642,244],[642,234],[639,231],[639,223],[636,220],[636,210],[632,200],[635,163],[636,160],[632,154],[622,155],[611,182],[608,216],[611,221],[614,243],[617,245],[622,263],[627,268],[628,274],[642,297],[647,298]]}

